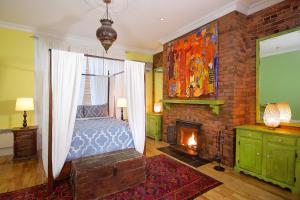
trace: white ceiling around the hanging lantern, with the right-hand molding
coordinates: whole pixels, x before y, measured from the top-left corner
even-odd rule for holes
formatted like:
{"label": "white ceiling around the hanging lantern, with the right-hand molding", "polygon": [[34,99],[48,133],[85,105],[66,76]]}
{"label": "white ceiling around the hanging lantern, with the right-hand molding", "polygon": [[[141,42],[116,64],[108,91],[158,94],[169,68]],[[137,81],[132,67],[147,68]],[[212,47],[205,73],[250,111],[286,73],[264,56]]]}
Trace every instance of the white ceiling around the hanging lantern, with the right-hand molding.
{"label": "white ceiling around the hanging lantern, with the right-hand molding", "polygon": [[[282,0],[112,0],[117,46],[155,52],[165,43],[233,10],[256,12]],[[102,0],[1,0],[0,26],[97,42]],[[161,21],[161,18],[164,18]]]}

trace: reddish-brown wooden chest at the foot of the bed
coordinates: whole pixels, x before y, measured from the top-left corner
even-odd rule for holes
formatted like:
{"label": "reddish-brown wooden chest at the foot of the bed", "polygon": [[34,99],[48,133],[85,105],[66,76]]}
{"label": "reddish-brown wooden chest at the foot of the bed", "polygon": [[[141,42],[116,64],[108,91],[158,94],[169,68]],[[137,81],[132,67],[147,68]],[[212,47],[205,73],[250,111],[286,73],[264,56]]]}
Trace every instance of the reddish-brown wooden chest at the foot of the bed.
{"label": "reddish-brown wooden chest at the foot of the bed", "polygon": [[143,183],[146,158],[127,149],[72,161],[71,185],[75,200],[98,199]]}

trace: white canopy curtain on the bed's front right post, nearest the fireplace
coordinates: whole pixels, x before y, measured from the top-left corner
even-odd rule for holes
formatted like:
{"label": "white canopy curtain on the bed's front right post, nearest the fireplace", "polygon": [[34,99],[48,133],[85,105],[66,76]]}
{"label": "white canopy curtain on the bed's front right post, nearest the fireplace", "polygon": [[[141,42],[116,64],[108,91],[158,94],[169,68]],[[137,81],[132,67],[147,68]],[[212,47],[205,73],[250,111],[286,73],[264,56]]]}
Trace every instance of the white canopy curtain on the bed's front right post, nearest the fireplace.
{"label": "white canopy curtain on the bed's front right post, nearest the fireplace", "polygon": [[145,146],[145,63],[125,61],[124,70],[129,126],[135,149],[143,153]]}

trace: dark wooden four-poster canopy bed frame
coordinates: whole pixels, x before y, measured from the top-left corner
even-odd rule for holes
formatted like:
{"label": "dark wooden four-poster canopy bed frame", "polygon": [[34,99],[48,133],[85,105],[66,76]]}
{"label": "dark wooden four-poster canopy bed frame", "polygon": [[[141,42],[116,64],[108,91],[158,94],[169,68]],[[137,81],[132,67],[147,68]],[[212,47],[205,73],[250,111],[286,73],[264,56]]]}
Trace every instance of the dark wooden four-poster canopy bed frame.
{"label": "dark wooden four-poster canopy bed frame", "polygon": [[[55,183],[59,180],[63,180],[70,177],[71,172],[71,164],[72,161],[65,162],[59,176],[54,179],[53,177],[53,167],[52,167],[52,50],[49,49],[49,56],[50,56],[50,62],[49,62],[49,127],[48,127],[48,193],[52,193],[54,190]],[[116,60],[116,61],[124,61],[121,59],[114,59],[114,58],[106,58],[101,56],[94,56],[89,54],[84,54],[86,57],[93,57],[93,58],[100,58],[100,59],[108,59],[108,60]],[[123,73],[123,72],[122,72]],[[114,75],[119,75],[121,73],[117,73]],[[82,74],[87,76],[96,76],[94,74]],[[108,72],[108,95],[107,95],[107,109],[109,113],[109,89],[110,89],[110,77],[114,75],[109,75]],[[144,81],[145,81],[145,74],[144,74]],[[146,84],[146,83],[145,83]],[[146,85],[144,86],[146,91]],[[146,93],[145,97],[146,99]],[[146,107],[146,101],[145,101],[145,107]],[[145,116],[146,117],[146,116]],[[145,126],[145,135],[146,135],[146,126]],[[146,154],[146,140],[144,144],[144,155]]]}

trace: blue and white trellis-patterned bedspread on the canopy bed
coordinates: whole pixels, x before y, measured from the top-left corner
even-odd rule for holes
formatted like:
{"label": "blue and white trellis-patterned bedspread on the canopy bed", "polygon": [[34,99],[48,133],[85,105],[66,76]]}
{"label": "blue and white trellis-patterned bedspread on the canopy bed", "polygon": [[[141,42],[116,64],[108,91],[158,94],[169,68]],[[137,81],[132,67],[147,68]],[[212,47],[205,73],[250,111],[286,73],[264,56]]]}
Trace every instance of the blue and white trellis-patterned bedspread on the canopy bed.
{"label": "blue and white trellis-patterned bedspread on the canopy bed", "polygon": [[134,148],[129,124],[114,118],[76,120],[67,160]]}

